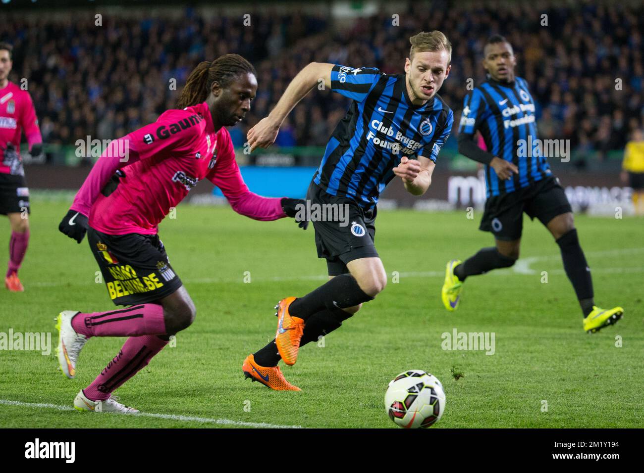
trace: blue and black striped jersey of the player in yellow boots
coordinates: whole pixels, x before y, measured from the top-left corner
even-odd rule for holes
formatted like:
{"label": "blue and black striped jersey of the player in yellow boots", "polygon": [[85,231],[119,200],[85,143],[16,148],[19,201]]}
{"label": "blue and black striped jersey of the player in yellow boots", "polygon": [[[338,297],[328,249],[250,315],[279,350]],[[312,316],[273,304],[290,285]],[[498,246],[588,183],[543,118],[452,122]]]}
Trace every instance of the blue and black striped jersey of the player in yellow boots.
{"label": "blue and black striped jersey of the player in yellow boots", "polygon": [[487,165],[488,198],[514,192],[551,174],[537,140],[535,102],[525,79],[516,77],[509,84],[489,79],[466,95],[459,134],[473,136],[477,130],[488,153],[511,161],[519,171],[512,179],[500,180],[493,167]]}

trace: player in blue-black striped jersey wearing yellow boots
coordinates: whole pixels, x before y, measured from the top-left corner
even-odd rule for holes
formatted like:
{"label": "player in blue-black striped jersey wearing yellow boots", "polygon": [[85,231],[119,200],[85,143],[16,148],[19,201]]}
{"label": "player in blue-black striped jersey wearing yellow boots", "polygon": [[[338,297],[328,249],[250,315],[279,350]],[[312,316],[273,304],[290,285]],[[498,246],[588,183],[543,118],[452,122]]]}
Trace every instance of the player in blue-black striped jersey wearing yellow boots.
{"label": "player in blue-black striped jersey wearing yellow boots", "polygon": [[[526,144],[539,143],[535,102],[526,80],[515,76],[516,57],[511,44],[495,35],[483,51],[488,80],[465,97],[458,140],[461,154],[486,165],[487,200],[479,228],[494,235],[496,246],[482,248],[462,263],[453,259],[447,264],[443,304],[449,311],[456,310],[467,277],[515,264],[526,212],[531,219],[538,218],[559,245],[565,274],[582,307],[583,329],[594,333],[619,320],[623,309],[603,310],[594,305],[591,270],[564,189],[541,148],[535,145],[526,149]],[[475,143],[477,130],[488,151]]]}

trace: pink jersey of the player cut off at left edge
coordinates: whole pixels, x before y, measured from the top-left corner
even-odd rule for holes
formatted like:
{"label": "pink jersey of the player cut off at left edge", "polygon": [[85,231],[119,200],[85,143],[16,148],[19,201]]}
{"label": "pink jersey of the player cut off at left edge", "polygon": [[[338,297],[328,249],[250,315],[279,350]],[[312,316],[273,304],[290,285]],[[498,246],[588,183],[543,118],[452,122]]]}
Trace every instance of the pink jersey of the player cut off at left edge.
{"label": "pink jersey of the player cut off at left edge", "polygon": [[32,97],[28,91],[21,90],[13,82],[7,82],[5,88],[0,89],[0,172],[10,173],[10,167],[2,163],[4,150],[6,144],[11,143],[20,153],[20,134],[23,129],[30,148],[34,143],[43,142]]}

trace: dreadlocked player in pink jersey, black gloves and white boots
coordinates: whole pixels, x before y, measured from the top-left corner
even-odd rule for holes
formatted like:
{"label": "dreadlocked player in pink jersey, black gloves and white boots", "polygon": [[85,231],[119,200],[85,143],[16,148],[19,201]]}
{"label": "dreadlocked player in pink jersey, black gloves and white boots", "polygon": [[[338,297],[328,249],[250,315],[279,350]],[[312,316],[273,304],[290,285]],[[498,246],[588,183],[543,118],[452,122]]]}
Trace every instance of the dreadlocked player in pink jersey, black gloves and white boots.
{"label": "dreadlocked player in pink jersey, black gloves and white boots", "polygon": [[[169,335],[193,323],[194,303],[157,233],[158,223],[199,180],[212,181],[233,210],[257,220],[294,216],[294,206],[302,202],[258,196],[243,182],[225,127],[242,120],[256,90],[256,72],[239,55],[200,63],[188,77],[180,109],[168,110],[155,123],[111,142],[62,219],[59,229],[78,243],[88,231],[109,297],[128,306],[59,314],[58,359],[68,378],[75,376],[88,339],[129,337],[99,376],[77,394],[76,409],[138,412],[118,403],[111,393],[146,366],[166,346]],[[113,178],[117,170],[120,176]]]}

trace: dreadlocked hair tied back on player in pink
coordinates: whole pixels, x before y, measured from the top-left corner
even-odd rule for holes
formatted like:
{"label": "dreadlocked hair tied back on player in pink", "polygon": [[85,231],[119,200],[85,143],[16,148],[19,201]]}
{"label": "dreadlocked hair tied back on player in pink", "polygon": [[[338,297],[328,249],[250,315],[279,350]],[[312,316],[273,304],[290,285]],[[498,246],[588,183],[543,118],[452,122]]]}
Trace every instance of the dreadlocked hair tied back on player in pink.
{"label": "dreadlocked hair tied back on player in pink", "polygon": [[226,88],[238,75],[247,73],[257,76],[252,64],[238,54],[224,54],[213,62],[200,62],[185,81],[176,107],[182,109],[200,104],[208,97],[213,82]]}

